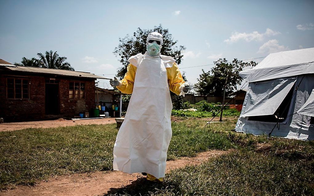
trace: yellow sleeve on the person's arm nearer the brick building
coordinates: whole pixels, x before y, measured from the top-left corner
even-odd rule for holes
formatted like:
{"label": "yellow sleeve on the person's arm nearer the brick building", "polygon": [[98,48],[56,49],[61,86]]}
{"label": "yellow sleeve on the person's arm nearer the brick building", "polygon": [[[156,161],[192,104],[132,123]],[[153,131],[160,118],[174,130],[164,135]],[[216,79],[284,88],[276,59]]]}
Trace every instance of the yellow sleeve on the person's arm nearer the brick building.
{"label": "yellow sleeve on the person's arm nearer the brick building", "polygon": [[120,80],[121,85],[117,86],[119,91],[125,94],[132,94],[136,69],[137,67],[131,63],[127,66],[127,72],[125,73],[124,78]]}

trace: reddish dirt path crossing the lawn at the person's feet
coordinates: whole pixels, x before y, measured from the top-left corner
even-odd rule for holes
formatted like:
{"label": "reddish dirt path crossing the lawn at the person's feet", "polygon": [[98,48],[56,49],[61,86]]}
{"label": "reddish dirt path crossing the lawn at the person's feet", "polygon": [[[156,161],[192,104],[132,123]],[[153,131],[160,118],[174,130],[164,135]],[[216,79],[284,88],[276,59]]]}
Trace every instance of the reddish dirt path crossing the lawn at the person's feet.
{"label": "reddish dirt path crossing the lawn at the person's feet", "polygon": [[[198,165],[211,157],[216,157],[228,151],[207,151],[199,153],[196,157],[181,158],[175,161],[168,161],[166,172],[171,169],[184,167],[187,164]],[[83,196],[83,195],[103,195],[110,188],[120,188],[143,177],[140,174],[127,174],[119,171],[114,172],[93,172],[89,174],[74,174],[67,176],[51,177],[47,181],[41,181],[34,187],[17,186],[15,189],[0,192],[1,196],[21,196],[21,195],[57,195],[57,196]]]}

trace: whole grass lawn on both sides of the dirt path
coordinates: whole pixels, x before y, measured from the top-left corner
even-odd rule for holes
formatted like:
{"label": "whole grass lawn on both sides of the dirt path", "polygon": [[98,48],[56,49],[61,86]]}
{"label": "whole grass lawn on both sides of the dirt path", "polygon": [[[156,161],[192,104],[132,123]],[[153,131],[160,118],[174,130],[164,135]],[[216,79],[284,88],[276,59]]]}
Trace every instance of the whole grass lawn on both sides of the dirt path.
{"label": "whole grass lawn on both sides of the dirt path", "polygon": [[[232,132],[236,119],[173,122],[168,159],[234,149],[199,166],[138,179],[108,195],[314,195],[314,142]],[[0,132],[0,188],[54,175],[112,170],[115,124]]]}

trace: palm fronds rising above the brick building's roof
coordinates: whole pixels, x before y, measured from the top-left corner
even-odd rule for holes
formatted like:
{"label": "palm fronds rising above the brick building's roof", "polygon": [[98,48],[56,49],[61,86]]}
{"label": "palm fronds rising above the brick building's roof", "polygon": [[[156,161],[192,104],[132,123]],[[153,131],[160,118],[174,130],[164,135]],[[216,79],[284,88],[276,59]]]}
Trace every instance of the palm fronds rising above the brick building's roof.
{"label": "palm fronds rising above the brick building's roof", "polygon": [[14,63],[14,65],[74,71],[74,68],[71,67],[70,63],[66,62],[67,57],[59,56],[57,54],[57,51],[53,52],[52,50],[50,50],[46,51],[45,55],[43,55],[42,53],[37,53],[37,55],[39,59],[27,59],[23,57],[21,63]]}

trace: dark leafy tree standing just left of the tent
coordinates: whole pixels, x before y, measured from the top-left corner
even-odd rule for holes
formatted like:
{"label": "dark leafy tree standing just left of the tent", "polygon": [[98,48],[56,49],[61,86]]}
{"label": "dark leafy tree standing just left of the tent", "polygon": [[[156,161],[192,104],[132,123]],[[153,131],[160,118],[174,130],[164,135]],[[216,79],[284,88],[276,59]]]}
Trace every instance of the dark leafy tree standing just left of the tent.
{"label": "dark leafy tree standing just left of the tent", "polygon": [[225,58],[214,61],[214,64],[215,66],[208,72],[202,69],[203,73],[199,75],[198,82],[194,85],[198,94],[223,96],[225,85],[226,93],[230,94],[242,82],[239,72],[246,66],[257,65],[254,61],[243,62],[234,59],[232,62],[228,62]]}

